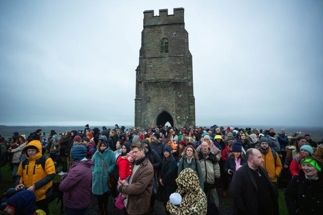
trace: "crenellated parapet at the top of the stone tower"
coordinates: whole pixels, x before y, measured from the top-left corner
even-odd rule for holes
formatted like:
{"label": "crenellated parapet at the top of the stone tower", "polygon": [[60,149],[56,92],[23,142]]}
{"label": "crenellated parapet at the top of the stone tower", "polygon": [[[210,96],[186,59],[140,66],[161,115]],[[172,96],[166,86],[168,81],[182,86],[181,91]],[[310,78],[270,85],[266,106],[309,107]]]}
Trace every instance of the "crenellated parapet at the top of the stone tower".
{"label": "crenellated parapet at the top of the stone tower", "polygon": [[143,26],[184,24],[184,8],[174,8],[174,15],[168,14],[168,9],[159,10],[159,16],[154,11],[144,11]]}

